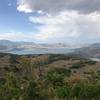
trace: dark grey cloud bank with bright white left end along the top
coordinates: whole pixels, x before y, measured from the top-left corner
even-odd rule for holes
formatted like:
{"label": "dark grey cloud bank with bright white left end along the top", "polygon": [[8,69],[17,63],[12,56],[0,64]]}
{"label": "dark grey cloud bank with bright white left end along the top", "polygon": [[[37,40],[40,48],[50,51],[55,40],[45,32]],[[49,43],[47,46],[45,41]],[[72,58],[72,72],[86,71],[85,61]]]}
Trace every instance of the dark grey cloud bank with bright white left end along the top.
{"label": "dark grey cloud bank with bright white left end along the top", "polygon": [[57,13],[63,10],[76,10],[81,13],[100,11],[100,0],[18,0],[19,11],[30,13],[42,10]]}

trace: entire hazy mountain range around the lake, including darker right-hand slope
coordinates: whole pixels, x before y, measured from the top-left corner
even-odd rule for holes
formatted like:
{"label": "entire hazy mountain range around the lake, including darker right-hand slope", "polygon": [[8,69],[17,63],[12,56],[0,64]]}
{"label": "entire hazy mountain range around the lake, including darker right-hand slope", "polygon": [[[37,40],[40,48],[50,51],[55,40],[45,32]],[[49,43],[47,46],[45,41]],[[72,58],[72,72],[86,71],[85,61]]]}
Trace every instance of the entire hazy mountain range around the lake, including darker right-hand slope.
{"label": "entire hazy mountain range around the lake, including darker right-hand slope", "polygon": [[[23,50],[50,50],[50,49],[59,49],[64,48],[63,51],[69,49],[70,51],[73,49],[74,54],[81,55],[82,57],[96,57],[100,58],[100,43],[94,44],[64,44],[64,43],[56,43],[56,44],[45,44],[45,43],[34,43],[34,42],[14,42],[9,40],[0,40],[0,52],[2,53],[12,53],[12,51],[23,51]],[[56,52],[55,50],[55,52]],[[60,53],[63,51],[60,51]],[[51,52],[51,51],[50,51]],[[49,52],[49,53],[50,53]],[[51,52],[52,53],[52,52]],[[59,52],[58,52],[59,53]],[[30,53],[31,54],[31,53]]]}

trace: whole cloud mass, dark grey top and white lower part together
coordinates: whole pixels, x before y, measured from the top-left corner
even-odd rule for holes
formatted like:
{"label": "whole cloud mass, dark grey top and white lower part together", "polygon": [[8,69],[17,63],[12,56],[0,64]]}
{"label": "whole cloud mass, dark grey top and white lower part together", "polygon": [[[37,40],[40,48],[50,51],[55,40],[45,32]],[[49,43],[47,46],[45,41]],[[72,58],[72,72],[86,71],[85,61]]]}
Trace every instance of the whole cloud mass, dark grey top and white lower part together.
{"label": "whole cloud mass, dark grey top and white lower part together", "polygon": [[100,38],[100,0],[18,0],[17,10],[39,14],[29,16],[37,41]]}

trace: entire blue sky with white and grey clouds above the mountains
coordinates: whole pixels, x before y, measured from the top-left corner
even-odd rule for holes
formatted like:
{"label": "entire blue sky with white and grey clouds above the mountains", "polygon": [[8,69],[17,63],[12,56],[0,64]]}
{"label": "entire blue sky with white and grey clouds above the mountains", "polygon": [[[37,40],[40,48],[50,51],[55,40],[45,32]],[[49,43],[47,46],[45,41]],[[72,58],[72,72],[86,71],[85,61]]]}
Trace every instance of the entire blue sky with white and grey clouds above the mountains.
{"label": "entire blue sky with white and grey clouds above the mountains", "polygon": [[100,0],[0,0],[0,39],[100,42]]}

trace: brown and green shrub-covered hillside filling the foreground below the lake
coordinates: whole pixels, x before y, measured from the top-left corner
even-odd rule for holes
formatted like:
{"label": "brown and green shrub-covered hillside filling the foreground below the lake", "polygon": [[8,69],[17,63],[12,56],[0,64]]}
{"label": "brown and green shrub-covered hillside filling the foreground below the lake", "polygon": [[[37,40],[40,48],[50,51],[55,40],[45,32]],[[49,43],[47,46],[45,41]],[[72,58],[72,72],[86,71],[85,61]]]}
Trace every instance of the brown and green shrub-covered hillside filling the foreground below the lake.
{"label": "brown and green shrub-covered hillside filling the foreground below the lake", "polygon": [[0,100],[100,100],[99,82],[100,62],[79,56],[0,54]]}

